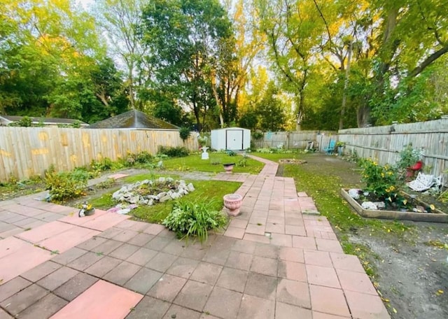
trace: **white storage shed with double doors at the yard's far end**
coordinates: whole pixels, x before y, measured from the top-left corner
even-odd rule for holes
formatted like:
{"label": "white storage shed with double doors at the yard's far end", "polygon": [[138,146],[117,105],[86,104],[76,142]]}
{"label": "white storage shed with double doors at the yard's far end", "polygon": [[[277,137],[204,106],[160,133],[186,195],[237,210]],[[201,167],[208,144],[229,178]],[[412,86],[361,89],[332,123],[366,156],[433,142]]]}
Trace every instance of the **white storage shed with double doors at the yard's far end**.
{"label": "white storage shed with double doors at the yard's far end", "polygon": [[210,139],[214,150],[246,150],[251,147],[251,130],[241,127],[212,129]]}

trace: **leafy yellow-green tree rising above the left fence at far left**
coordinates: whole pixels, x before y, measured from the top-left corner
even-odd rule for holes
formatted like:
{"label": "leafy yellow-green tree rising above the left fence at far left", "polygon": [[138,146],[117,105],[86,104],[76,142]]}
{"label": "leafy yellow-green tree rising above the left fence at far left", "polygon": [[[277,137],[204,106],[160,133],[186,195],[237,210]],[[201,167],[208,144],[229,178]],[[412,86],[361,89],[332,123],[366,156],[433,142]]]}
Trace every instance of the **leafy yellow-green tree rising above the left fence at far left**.
{"label": "leafy yellow-green tree rising above the left fence at far left", "polygon": [[88,70],[105,53],[93,17],[69,0],[1,4],[3,111],[81,119],[83,104],[90,100],[84,94],[94,99]]}

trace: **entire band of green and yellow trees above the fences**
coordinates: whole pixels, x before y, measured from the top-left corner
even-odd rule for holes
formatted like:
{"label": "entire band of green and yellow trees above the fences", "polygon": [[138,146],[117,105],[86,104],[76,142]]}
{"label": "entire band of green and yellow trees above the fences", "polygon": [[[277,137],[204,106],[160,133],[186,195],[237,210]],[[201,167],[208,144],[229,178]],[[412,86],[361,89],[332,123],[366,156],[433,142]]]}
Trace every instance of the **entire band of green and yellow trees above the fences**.
{"label": "entire band of green and yellow trees above the fences", "polygon": [[0,0],[0,114],[96,122],[137,108],[265,131],[439,118],[444,2]]}

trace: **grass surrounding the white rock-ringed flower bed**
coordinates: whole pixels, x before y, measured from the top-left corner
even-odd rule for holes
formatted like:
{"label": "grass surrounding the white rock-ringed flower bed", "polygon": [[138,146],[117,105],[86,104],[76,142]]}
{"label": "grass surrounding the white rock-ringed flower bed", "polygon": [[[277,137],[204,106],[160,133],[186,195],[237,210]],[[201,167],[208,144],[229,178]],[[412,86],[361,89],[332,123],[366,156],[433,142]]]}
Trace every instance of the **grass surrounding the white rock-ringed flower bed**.
{"label": "grass surrounding the white rock-ringed flower bed", "polygon": [[[155,176],[159,177],[159,176]],[[175,178],[174,176],[171,176]],[[144,180],[148,174],[130,176],[126,178],[127,183],[135,183],[137,180]],[[193,183],[195,191],[182,197],[179,201],[213,201],[212,207],[217,211],[223,208],[223,196],[235,192],[241,183],[223,182],[219,180],[186,180],[186,183]],[[90,204],[99,209],[109,209],[118,204],[112,199],[113,190],[101,197],[90,200]],[[154,206],[139,206],[130,212],[137,220],[145,222],[160,223],[172,210],[173,201],[166,201]]]}

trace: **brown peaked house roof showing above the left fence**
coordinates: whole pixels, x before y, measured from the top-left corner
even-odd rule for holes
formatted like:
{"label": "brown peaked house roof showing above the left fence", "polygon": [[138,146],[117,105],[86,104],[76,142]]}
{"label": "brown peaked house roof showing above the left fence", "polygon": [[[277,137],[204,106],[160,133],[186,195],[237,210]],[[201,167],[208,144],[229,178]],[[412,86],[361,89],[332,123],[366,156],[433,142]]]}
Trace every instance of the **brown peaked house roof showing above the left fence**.
{"label": "brown peaked house roof showing above the left fence", "polygon": [[146,113],[131,110],[89,125],[87,129],[179,129],[179,127]]}

